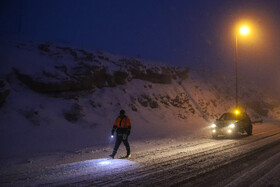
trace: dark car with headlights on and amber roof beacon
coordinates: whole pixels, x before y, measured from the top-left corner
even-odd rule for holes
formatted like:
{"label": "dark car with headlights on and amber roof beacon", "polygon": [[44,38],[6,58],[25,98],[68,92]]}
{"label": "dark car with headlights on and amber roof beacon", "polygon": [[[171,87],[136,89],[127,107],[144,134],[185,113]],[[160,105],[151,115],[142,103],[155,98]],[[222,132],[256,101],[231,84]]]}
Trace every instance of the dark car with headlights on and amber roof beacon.
{"label": "dark car with headlights on and amber roof beacon", "polygon": [[248,136],[252,135],[253,125],[249,115],[246,112],[227,112],[221,115],[219,119],[211,125],[212,137],[219,135],[227,137],[236,137],[239,133],[246,132]]}

